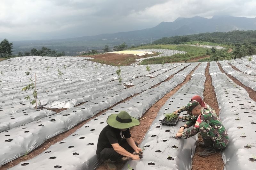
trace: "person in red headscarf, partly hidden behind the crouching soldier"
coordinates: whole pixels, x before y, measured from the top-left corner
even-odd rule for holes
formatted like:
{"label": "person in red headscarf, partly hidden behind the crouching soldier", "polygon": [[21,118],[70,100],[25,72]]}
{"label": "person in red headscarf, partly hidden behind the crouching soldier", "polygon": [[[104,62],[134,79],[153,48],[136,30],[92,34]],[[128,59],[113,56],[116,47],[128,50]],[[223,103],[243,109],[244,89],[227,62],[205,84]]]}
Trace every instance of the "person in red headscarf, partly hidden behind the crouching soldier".
{"label": "person in red headscarf, partly hidden behind the crouching soldier", "polygon": [[[196,101],[198,101],[199,102],[199,104],[202,106],[202,107],[205,107],[205,108],[208,108],[209,110],[213,110],[214,111],[214,109],[211,107],[211,106],[209,106],[207,103],[205,103],[203,100],[202,100],[202,98],[200,97],[200,96],[198,96],[198,95],[195,95],[195,96],[193,96],[192,97],[192,99],[190,100],[190,101],[192,101],[192,100],[196,100]],[[186,106],[183,106],[183,107],[180,107],[178,110],[176,110],[174,113],[181,113],[181,112],[183,112],[183,111],[187,111],[187,116],[180,116],[179,117],[179,119],[182,119],[182,120],[185,120],[185,121],[189,121],[190,120],[190,118],[191,118],[191,111],[188,111],[188,105],[186,105]],[[214,111],[215,112],[215,111]]]}

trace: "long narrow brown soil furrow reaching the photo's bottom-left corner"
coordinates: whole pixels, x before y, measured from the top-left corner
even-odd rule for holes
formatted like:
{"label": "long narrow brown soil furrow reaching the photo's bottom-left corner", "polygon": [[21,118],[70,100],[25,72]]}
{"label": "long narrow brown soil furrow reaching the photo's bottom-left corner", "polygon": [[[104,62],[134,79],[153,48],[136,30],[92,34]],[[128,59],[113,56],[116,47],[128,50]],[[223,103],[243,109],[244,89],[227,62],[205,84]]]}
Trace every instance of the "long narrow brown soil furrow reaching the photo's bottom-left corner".
{"label": "long narrow brown soil furrow reaching the photo's bottom-left corner", "polygon": [[[183,69],[182,69],[182,70],[183,70]],[[181,71],[181,70],[180,70],[180,71]],[[180,72],[180,71],[179,71],[179,72]],[[162,83],[162,82],[161,82],[161,83]],[[153,87],[151,87],[151,88],[154,88],[154,87],[160,85],[161,83],[159,83],[159,84],[157,84],[157,85],[155,85],[155,86],[153,86]],[[133,86],[133,85],[131,85],[130,87],[132,87],[132,86]],[[51,145],[56,144],[56,143],[62,141],[63,139],[65,139],[66,137],[68,137],[69,135],[71,135],[72,133],[74,133],[77,129],[79,129],[79,128],[81,128],[82,126],[84,126],[85,123],[89,122],[90,120],[94,119],[95,117],[97,117],[97,116],[99,116],[99,115],[104,114],[106,111],[108,111],[109,109],[115,107],[115,106],[118,105],[119,103],[123,103],[123,102],[125,102],[125,101],[127,101],[127,100],[130,100],[132,97],[135,97],[135,96],[137,96],[137,95],[139,95],[139,94],[140,94],[140,93],[135,94],[135,95],[133,95],[133,96],[131,96],[131,97],[128,97],[128,98],[126,98],[125,100],[122,100],[122,101],[116,103],[116,104],[113,105],[112,107],[110,107],[110,108],[108,108],[108,109],[105,109],[105,110],[99,112],[98,114],[94,115],[92,118],[90,118],[90,119],[88,119],[88,120],[85,120],[85,121],[83,121],[83,122],[78,123],[78,124],[77,124],[75,127],[73,127],[72,129],[70,129],[70,130],[68,130],[68,131],[66,131],[66,132],[63,132],[63,133],[61,133],[61,134],[59,134],[59,135],[57,135],[57,136],[55,136],[55,137],[52,137],[52,138],[46,140],[42,145],[40,145],[39,147],[37,147],[37,148],[36,148],[35,150],[33,150],[32,152],[28,153],[28,155],[26,155],[26,156],[21,156],[21,157],[19,157],[19,158],[17,158],[17,159],[14,159],[14,160],[12,160],[12,161],[10,161],[10,162],[8,162],[8,163],[6,163],[6,164],[0,166],[0,170],[7,170],[7,169],[9,169],[9,168],[11,168],[11,167],[13,167],[13,166],[15,166],[15,165],[18,165],[18,164],[19,164],[20,162],[22,162],[22,161],[29,160],[29,159],[32,159],[32,158],[36,157],[36,156],[39,155],[40,153],[42,153],[42,152],[44,152],[45,150],[47,150]],[[80,104],[77,105],[77,106],[80,106]],[[76,106],[76,107],[77,107],[77,106]],[[65,110],[65,109],[62,109],[62,108],[60,108],[60,109],[49,109],[49,108],[48,108],[47,110],[52,110],[52,111],[55,111],[56,113],[59,113],[59,112]]]}

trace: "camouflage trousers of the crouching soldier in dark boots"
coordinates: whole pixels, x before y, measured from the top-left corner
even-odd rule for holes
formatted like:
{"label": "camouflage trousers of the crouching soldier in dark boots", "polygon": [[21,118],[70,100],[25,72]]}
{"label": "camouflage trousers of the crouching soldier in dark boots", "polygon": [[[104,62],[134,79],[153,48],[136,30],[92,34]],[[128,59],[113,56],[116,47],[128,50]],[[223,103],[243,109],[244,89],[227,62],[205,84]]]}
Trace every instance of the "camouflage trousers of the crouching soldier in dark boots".
{"label": "camouflage trousers of the crouching soldier in dark boots", "polygon": [[[212,128],[208,123],[201,122],[199,125],[199,131],[203,139],[211,139],[213,142],[213,147],[215,149],[224,149],[227,144],[225,143],[225,138],[222,137],[219,132]],[[223,140],[224,139],[224,140]]]}

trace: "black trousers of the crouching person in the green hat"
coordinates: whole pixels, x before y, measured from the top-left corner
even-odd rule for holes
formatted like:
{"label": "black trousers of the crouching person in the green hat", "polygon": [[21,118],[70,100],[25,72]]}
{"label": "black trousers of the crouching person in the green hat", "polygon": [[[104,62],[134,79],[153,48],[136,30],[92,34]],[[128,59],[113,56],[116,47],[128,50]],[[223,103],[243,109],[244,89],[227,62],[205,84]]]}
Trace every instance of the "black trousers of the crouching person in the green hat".
{"label": "black trousers of the crouching person in the green hat", "polygon": [[[138,146],[138,143],[135,142],[135,144]],[[132,147],[127,143],[126,139],[122,139],[119,143],[120,146],[122,146],[126,151],[133,153],[134,150]],[[104,148],[100,154],[99,154],[100,159],[103,160],[108,160],[110,159],[111,161],[117,161],[118,159],[123,158],[123,155],[120,155],[117,153],[113,148]]]}

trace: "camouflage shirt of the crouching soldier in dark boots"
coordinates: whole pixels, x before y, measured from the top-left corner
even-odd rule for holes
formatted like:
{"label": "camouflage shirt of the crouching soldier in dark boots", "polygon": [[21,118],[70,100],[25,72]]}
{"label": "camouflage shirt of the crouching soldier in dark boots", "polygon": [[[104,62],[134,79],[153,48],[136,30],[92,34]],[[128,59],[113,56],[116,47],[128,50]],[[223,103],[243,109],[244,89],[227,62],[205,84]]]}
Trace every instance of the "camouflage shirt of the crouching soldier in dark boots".
{"label": "camouflage shirt of the crouching soldier in dark boots", "polygon": [[[215,130],[217,130],[217,132],[221,135],[223,141],[225,143],[228,143],[228,133],[224,127],[224,125],[222,124],[222,122],[220,121],[219,117],[215,114],[214,111],[209,110],[207,108],[202,108],[201,111],[201,122],[205,122],[207,124],[209,124],[212,128],[214,128]],[[193,122],[193,124],[196,123],[196,116],[191,116],[191,119],[186,123],[186,125],[188,125],[188,127],[190,127],[191,123]],[[188,137],[192,137],[194,135],[196,135],[199,132],[199,128],[192,128],[192,129],[188,129],[187,131],[184,131],[182,133],[182,136],[186,139]]]}

